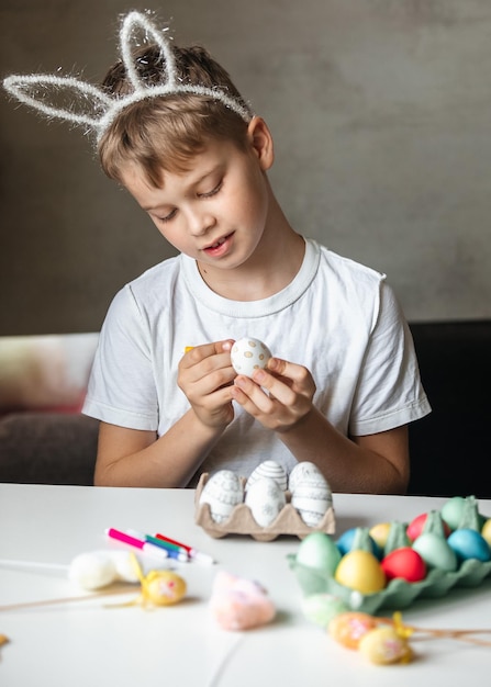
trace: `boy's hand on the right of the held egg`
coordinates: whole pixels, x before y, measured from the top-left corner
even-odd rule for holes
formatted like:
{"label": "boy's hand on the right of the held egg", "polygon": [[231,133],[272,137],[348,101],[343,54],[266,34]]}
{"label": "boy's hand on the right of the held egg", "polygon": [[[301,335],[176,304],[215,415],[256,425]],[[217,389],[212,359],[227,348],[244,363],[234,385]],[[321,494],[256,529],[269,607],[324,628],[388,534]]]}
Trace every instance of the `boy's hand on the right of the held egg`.
{"label": "boy's hand on the right of the held egg", "polygon": [[303,365],[271,358],[267,369],[256,370],[253,379],[237,375],[231,391],[234,401],[264,427],[281,432],[310,413],[315,382]]}

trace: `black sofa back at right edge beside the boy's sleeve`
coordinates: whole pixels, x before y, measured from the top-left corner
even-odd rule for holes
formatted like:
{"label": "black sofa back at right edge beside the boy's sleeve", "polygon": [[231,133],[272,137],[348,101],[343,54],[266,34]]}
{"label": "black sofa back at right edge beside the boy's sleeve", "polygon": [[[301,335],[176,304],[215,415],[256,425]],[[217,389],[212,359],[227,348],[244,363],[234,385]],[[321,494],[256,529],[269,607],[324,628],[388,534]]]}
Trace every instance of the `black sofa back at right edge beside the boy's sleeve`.
{"label": "black sofa back at right edge beside the boy's sleeve", "polygon": [[433,413],[410,428],[410,494],[491,498],[491,320],[412,324]]}

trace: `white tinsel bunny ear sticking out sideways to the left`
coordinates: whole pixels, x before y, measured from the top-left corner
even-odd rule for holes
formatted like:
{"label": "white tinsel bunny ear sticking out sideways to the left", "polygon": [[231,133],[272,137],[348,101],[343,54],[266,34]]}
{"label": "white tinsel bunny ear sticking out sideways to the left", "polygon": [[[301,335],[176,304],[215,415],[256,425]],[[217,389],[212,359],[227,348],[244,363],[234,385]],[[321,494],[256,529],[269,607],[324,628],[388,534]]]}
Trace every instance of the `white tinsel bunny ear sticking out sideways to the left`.
{"label": "white tinsel bunny ear sticking out sideways to the left", "polygon": [[96,86],[75,77],[13,75],[3,80],[3,86],[11,95],[48,117],[86,124],[96,129],[101,115],[113,102]]}

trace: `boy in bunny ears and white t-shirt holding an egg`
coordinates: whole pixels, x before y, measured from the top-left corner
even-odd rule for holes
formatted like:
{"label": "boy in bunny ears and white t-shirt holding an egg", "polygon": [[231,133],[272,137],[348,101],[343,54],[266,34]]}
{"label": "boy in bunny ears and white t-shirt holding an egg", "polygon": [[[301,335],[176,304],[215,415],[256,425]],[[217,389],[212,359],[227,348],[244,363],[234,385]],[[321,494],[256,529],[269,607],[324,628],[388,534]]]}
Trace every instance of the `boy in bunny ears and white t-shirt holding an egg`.
{"label": "boy in bunny ears and white t-shirt holding an egg", "polygon": [[[156,45],[133,54],[138,27]],[[85,404],[101,420],[96,484],[193,486],[272,459],[316,463],[334,492],[404,493],[408,423],[429,406],[384,277],[290,226],[269,128],[205,50],[170,47],[137,12],[121,49],[100,95],[74,86],[103,109],[78,121],[180,255],[108,312]],[[231,364],[244,336],[275,356],[253,379]]]}

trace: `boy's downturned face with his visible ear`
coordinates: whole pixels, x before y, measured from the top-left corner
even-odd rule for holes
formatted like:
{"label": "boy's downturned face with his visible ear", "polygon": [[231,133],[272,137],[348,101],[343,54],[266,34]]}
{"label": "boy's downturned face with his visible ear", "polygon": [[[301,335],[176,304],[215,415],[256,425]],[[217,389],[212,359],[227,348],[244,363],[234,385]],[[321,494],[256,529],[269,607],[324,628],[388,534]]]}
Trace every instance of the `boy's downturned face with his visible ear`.
{"label": "boy's downturned face with his visible ear", "polygon": [[[268,148],[269,146],[269,148]],[[179,251],[209,272],[247,263],[267,226],[272,145],[263,120],[249,124],[249,146],[210,142],[186,172],[163,174],[155,189],[137,167],[129,167],[123,183]]]}

